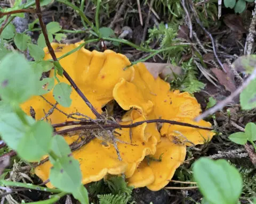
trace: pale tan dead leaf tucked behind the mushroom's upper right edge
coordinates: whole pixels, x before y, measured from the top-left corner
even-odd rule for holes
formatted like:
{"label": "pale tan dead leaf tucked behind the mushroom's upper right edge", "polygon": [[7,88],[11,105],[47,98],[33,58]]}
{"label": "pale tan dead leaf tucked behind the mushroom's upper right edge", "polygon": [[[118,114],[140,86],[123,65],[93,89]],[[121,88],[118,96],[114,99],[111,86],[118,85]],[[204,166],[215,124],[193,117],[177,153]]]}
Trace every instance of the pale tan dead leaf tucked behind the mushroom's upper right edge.
{"label": "pale tan dead leaf tucked behind the mushroom's upper right edge", "polygon": [[180,75],[182,74],[182,68],[180,66],[174,66],[168,63],[144,63],[147,67],[147,70],[153,75],[156,79],[159,75],[161,79],[166,79],[166,81],[170,82],[174,79],[174,74]]}

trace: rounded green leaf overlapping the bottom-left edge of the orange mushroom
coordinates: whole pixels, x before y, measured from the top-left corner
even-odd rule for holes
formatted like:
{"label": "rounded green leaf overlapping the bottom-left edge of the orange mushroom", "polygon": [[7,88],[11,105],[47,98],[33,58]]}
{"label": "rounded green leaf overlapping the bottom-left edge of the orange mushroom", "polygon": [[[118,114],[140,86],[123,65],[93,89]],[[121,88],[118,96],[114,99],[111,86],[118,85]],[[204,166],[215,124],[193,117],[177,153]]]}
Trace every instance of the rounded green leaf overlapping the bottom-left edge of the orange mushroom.
{"label": "rounded green leaf overlapping the bottom-left edge of the orange mushroom", "polygon": [[72,156],[60,158],[54,162],[54,166],[51,168],[50,181],[62,191],[75,191],[82,181],[79,162]]}

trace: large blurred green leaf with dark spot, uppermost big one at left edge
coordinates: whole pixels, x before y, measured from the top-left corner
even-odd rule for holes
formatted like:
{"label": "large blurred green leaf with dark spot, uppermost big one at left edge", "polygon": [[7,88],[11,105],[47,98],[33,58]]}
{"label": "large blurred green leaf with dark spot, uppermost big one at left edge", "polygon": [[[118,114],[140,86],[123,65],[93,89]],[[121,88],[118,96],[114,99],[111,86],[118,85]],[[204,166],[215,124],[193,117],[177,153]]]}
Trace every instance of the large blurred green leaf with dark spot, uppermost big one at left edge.
{"label": "large blurred green leaf with dark spot, uppermost big one at left edge", "polygon": [[36,74],[26,58],[13,52],[0,63],[0,96],[10,103],[23,103],[35,94]]}

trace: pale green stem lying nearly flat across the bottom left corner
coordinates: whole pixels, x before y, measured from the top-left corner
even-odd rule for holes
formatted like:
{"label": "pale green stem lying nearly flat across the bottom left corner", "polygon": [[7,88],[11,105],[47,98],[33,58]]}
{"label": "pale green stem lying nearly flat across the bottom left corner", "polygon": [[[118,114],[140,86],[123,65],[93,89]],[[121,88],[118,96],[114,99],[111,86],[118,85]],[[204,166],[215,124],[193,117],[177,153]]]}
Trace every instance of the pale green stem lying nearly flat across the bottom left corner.
{"label": "pale green stem lying nearly flat across the bottom left corner", "polygon": [[19,183],[19,182],[13,182],[13,181],[6,181],[6,180],[0,180],[0,185],[4,186],[15,186],[15,187],[21,187],[21,188],[27,188],[27,189],[33,189],[37,191],[45,191],[45,192],[51,192],[51,193],[61,193],[61,190],[58,189],[49,189],[43,186],[34,185],[30,183]]}

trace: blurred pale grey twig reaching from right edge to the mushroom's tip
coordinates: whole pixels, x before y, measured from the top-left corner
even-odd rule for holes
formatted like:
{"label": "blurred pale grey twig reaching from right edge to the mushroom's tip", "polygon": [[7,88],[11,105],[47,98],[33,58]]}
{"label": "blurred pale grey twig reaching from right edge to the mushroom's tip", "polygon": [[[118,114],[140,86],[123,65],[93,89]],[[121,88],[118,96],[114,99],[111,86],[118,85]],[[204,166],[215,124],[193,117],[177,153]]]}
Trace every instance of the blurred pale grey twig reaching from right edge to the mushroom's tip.
{"label": "blurred pale grey twig reaching from right edge to the mushroom's tip", "polygon": [[207,111],[205,111],[203,114],[197,116],[195,118],[195,121],[198,122],[203,118],[207,117],[208,115],[212,115],[213,113],[221,110],[227,104],[231,103],[233,101],[233,98],[238,96],[255,78],[256,78],[256,69],[253,70],[252,74],[244,81],[244,83],[242,83],[240,87],[238,87],[233,93],[231,93],[230,96],[220,101],[217,105],[213,106],[212,108],[207,109]]}

